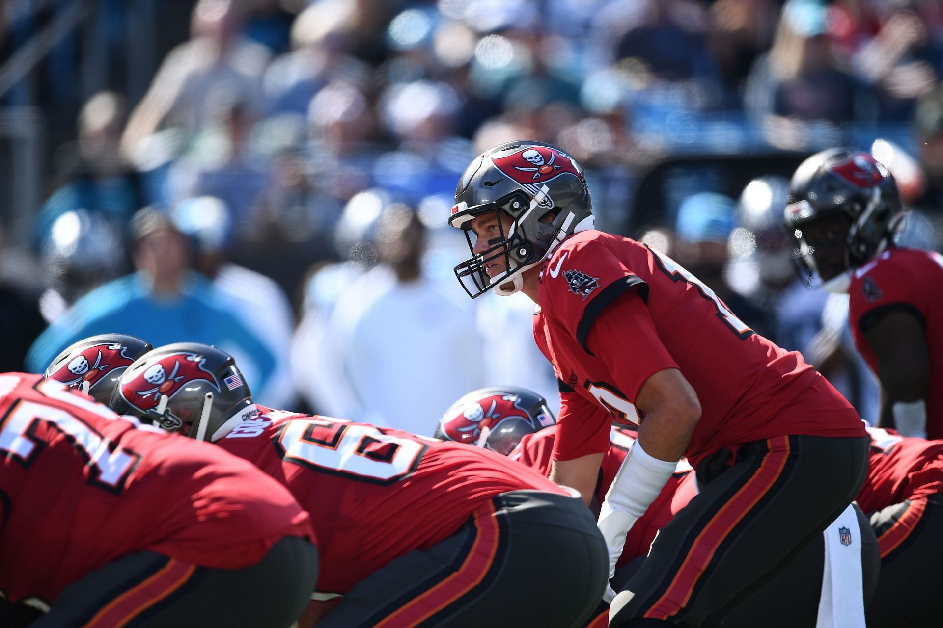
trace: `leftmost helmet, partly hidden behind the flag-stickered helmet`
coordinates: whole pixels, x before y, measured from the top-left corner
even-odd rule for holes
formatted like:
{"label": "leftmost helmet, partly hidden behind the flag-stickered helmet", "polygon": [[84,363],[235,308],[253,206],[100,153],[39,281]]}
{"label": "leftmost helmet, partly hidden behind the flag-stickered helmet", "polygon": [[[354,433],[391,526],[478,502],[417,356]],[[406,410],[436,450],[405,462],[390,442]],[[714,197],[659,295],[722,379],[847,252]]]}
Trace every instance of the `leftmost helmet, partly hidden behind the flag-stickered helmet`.
{"label": "leftmost helmet, partly hidden behind the flag-stickered helmet", "polygon": [[42,377],[57,379],[108,404],[124,369],[153,348],[147,341],[125,333],[90,336],[66,347]]}

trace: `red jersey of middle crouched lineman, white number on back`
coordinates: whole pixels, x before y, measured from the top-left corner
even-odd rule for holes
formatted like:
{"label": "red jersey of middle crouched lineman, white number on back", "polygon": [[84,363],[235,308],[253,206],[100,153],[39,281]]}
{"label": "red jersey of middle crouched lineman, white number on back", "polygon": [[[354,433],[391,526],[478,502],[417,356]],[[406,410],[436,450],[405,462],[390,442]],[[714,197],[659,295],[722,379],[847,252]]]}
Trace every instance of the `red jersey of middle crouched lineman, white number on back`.
{"label": "red jersey of middle crouched lineman, white number on back", "polygon": [[455,534],[473,510],[500,493],[570,494],[486,449],[259,410],[217,444],[273,475],[311,513],[322,592],[345,593],[393,558]]}

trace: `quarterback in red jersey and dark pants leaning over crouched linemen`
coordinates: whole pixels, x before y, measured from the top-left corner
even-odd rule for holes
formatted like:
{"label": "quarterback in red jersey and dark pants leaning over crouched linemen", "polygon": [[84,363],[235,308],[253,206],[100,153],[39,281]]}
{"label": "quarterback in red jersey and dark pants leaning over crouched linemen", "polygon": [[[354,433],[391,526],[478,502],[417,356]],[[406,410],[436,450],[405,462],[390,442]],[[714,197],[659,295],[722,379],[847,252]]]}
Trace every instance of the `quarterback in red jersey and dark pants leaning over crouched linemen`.
{"label": "quarterback in red jersey and dark pants leaning over crouched linemen", "polygon": [[638,427],[598,522],[610,574],[678,459],[703,483],[614,602],[611,625],[722,620],[852,501],[868,456],[852,406],[685,268],[595,230],[570,155],[531,141],[482,153],[449,223],[468,236],[472,257],[455,274],[472,297],[521,291],[538,304],[535,337],[561,392],[551,478],[588,502],[610,422]]}

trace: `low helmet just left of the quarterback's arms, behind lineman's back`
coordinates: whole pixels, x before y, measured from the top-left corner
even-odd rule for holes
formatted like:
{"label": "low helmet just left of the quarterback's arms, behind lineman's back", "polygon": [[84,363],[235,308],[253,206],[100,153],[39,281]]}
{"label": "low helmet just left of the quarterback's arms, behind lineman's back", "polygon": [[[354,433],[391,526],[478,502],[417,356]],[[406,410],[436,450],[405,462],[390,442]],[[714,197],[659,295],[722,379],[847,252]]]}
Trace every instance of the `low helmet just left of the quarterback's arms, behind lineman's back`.
{"label": "low helmet just left of the quarterback's arms, behind lineman's back", "polygon": [[468,443],[507,456],[532,434],[556,424],[547,400],[515,386],[480,388],[463,396],[442,414],[436,438]]}

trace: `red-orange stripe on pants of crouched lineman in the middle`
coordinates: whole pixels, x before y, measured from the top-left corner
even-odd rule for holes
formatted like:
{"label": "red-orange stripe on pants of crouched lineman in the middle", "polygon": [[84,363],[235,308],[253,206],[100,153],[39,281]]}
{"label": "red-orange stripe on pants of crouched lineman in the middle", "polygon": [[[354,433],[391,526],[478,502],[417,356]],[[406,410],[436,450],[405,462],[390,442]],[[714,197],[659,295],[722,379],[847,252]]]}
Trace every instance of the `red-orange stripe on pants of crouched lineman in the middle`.
{"label": "red-orange stripe on pants of crouched lineman in the middle", "polygon": [[501,529],[494,513],[492,502],[475,510],[475,539],[472,549],[457,572],[397,609],[374,628],[415,626],[475,588],[491,569],[498,550]]}

